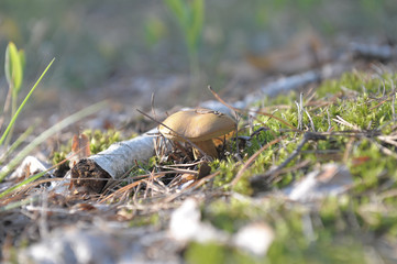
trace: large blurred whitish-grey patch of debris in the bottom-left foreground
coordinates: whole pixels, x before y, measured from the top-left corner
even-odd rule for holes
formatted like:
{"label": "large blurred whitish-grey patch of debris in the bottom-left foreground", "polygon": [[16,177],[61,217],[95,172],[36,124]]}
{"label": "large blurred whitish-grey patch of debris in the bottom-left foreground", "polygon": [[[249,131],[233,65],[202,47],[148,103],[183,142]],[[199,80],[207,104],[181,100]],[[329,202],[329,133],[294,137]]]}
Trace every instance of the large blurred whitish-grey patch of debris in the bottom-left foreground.
{"label": "large blurred whitish-grey patch of debris in the bottom-left foreground", "polygon": [[57,228],[40,242],[21,249],[18,263],[180,263],[179,248],[173,242],[165,232],[150,228],[76,224]]}

